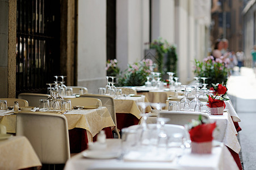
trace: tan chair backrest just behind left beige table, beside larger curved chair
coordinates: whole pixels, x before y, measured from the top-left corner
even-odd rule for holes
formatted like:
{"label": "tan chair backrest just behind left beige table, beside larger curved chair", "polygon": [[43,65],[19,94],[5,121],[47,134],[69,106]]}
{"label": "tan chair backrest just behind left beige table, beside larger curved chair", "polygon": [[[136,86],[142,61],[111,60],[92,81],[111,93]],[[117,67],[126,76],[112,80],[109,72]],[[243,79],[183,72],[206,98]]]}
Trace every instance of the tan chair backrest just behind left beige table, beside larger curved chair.
{"label": "tan chair backrest just behind left beige table, beside larger curved chair", "polygon": [[70,98],[72,108],[74,106],[91,107],[91,106],[102,106],[102,101],[92,97],[77,97]]}

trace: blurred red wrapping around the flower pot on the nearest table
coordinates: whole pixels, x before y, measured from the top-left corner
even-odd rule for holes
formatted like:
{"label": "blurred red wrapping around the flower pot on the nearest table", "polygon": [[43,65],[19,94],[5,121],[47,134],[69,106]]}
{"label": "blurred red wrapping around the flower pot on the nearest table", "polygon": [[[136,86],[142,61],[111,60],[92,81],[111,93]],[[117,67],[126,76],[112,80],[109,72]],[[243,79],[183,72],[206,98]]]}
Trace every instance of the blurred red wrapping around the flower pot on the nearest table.
{"label": "blurred red wrapping around the flower pot on the nearest table", "polygon": [[213,124],[202,124],[195,126],[188,131],[191,141],[193,142],[209,142],[212,141],[212,132],[216,127],[216,122]]}

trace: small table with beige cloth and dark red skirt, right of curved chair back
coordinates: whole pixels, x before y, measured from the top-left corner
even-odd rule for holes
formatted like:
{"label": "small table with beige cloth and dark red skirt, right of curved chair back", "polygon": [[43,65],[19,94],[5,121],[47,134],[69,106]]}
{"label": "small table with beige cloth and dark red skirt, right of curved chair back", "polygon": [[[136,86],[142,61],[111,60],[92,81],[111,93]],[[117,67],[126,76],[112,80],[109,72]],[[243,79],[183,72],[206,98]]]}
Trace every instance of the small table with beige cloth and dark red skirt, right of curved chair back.
{"label": "small table with beige cloth and dark red skirt, right of curved chair back", "polygon": [[[139,123],[141,109],[137,102],[148,102],[148,99],[144,95],[115,97],[117,129],[121,130]],[[145,112],[150,111],[151,107],[148,105]]]}

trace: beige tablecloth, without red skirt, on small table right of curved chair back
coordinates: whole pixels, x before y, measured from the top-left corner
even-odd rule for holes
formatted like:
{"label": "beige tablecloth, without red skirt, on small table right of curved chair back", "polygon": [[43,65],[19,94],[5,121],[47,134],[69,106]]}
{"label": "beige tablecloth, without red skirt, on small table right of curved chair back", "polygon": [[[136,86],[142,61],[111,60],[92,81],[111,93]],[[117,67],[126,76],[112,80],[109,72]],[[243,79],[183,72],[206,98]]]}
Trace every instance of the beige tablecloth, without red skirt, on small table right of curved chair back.
{"label": "beige tablecloth, without red skirt, on small table right of curved chair back", "polygon": [[[115,98],[116,113],[130,113],[140,119],[141,110],[140,107],[137,105],[137,102],[148,102],[148,99],[144,95],[141,95],[139,97],[121,96]],[[148,113],[150,111],[151,107],[146,107],[146,112]]]}

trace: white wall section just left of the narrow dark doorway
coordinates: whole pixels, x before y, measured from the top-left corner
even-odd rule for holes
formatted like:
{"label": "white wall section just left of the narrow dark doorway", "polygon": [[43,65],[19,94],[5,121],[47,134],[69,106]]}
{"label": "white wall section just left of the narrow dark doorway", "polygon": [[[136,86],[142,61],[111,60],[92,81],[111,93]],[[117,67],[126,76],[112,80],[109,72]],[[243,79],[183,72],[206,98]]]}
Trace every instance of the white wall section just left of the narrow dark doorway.
{"label": "white wall section just left of the narrow dark doorway", "polygon": [[78,1],[78,86],[106,85],[106,1]]}

